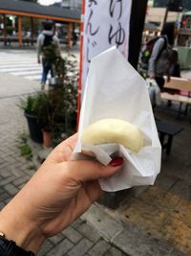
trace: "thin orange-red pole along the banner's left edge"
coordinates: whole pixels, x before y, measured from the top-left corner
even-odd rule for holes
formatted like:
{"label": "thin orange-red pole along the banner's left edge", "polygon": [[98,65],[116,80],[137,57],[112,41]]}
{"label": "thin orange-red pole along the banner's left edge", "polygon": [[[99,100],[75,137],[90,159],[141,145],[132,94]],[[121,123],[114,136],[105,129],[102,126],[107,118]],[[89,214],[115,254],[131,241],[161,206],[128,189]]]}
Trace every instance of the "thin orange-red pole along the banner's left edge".
{"label": "thin orange-red pole along the banner's left edge", "polygon": [[80,57],[79,57],[79,81],[78,81],[78,98],[77,98],[77,124],[76,129],[78,129],[80,107],[81,107],[81,80],[82,80],[82,65],[83,65],[83,32],[84,32],[84,13],[85,13],[85,0],[81,3],[81,24],[80,24]]}

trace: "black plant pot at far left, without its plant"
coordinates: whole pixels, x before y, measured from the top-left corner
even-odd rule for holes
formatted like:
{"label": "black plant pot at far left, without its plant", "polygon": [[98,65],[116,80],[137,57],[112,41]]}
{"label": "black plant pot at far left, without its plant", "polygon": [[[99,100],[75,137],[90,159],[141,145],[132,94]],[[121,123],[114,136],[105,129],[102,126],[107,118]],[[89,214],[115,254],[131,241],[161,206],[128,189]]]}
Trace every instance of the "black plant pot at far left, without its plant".
{"label": "black plant pot at far left, without its plant", "polygon": [[42,137],[42,131],[41,131],[40,125],[38,123],[38,117],[30,115],[28,113],[25,113],[25,117],[28,122],[30,137],[32,138],[32,141],[37,143],[42,143],[43,137]]}

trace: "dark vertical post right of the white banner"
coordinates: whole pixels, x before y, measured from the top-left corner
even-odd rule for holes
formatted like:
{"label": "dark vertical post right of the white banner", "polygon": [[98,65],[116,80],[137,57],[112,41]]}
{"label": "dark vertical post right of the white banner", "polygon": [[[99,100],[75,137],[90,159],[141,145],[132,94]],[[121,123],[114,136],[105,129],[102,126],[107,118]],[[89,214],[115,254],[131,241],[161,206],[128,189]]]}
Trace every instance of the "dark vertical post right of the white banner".
{"label": "dark vertical post right of the white banner", "polygon": [[132,0],[129,36],[129,62],[137,69],[138,57],[144,29],[147,0]]}

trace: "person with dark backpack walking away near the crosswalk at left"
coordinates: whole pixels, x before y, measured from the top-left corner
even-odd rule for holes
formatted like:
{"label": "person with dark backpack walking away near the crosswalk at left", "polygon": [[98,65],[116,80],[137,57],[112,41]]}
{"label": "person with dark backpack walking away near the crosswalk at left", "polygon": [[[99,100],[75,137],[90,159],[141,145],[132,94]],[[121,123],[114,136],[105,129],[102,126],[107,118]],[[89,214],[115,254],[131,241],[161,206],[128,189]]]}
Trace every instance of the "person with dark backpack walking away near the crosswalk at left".
{"label": "person with dark backpack walking away near the crosswalk at left", "polygon": [[[45,84],[47,81],[47,76],[51,72],[53,78],[53,54],[48,53],[49,47],[54,44],[56,49],[56,54],[60,55],[59,39],[53,34],[53,22],[43,22],[44,30],[37,37],[37,62],[42,61],[42,79],[41,79],[41,89],[45,89]],[[42,60],[41,60],[42,58]]]}

